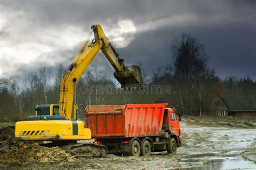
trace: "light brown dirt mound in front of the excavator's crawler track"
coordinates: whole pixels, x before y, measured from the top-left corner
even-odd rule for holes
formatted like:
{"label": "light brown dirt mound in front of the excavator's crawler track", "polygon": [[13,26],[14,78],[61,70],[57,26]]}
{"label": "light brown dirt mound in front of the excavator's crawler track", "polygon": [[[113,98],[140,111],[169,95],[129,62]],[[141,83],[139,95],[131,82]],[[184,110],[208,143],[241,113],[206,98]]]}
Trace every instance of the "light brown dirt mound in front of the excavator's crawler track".
{"label": "light brown dirt mound in front of the excavator's crawler track", "polygon": [[63,151],[59,147],[44,147],[38,143],[21,144],[8,153],[0,156],[1,162],[25,163],[25,162],[73,162],[77,159]]}

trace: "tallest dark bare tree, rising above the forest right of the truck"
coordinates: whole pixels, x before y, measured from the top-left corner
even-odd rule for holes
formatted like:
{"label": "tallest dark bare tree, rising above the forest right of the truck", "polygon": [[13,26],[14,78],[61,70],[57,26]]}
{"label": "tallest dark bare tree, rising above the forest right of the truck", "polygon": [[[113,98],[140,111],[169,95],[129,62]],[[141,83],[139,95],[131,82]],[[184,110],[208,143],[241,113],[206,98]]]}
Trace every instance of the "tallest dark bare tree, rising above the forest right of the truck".
{"label": "tallest dark bare tree, rising above the forest right of the truck", "polygon": [[[182,34],[172,42],[171,50],[174,60],[174,77],[179,84],[181,106],[184,108],[187,105],[186,108],[191,114],[198,111],[201,116],[204,82],[215,76],[215,72],[207,68],[208,58],[204,45],[191,34]],[[180,89],[180,82],[183,83],[183,90]],[[186,103],[183,101],[185,97]]]}

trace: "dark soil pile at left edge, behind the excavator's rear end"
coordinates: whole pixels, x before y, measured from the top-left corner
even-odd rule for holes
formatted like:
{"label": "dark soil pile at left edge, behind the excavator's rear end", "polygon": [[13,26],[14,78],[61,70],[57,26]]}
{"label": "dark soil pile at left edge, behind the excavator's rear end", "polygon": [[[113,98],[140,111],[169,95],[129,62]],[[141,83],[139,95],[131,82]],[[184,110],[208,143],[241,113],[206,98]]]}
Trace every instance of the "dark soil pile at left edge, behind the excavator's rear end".
{"label": "dark soil pile at left edge, behind the excavator's rear end", "polygon": [[0,129],[0,155],[8,153],[11,148],[18,146],[19,142],[15,140],[14,129],[14,126]]}

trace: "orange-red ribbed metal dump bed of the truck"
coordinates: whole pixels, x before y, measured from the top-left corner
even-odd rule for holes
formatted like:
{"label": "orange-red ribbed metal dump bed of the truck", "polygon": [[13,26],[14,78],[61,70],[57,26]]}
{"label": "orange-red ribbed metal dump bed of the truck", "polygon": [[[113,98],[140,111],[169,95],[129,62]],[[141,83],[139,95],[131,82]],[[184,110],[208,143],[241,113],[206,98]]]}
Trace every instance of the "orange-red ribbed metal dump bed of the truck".
{"label": "orange-red ribbed metal dump bed of the truck", "polygon": [[85,117],[92,138],[160,136],[166,105],[89,105]]}

